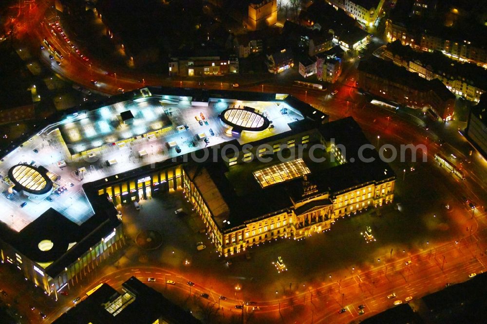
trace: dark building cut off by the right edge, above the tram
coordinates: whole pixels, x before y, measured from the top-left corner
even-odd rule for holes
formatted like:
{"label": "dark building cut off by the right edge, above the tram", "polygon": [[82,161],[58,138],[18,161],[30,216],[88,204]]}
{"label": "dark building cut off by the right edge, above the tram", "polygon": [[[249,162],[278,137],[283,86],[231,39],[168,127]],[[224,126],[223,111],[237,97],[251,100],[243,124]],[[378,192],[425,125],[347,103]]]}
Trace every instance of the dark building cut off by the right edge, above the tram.
{"label": "dark building cut off by the right edge, above the tram", "polygon": [[475,147],[487,160],[487,94],[484,93],[480,102],[470,108],[467,128],[463,132],[468,142]]}

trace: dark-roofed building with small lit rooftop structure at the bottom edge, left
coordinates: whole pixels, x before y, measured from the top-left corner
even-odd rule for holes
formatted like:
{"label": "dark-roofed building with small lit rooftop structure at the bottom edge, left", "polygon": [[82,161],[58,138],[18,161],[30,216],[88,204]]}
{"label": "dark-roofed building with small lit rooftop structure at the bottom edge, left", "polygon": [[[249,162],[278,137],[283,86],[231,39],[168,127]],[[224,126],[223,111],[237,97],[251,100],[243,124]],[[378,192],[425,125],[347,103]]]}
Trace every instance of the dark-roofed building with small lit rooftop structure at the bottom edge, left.
{"label": "dark-roofed building with small lit rooftop structure at the bottom edge, left", "polygon": [[180,306],[172,303],[160,292],[131,277],[122,284],[118,292],[104,283],[90,291],[74,307],[57,318],[53,323],[93,323],[93,324],[198,324],[199,320]]}

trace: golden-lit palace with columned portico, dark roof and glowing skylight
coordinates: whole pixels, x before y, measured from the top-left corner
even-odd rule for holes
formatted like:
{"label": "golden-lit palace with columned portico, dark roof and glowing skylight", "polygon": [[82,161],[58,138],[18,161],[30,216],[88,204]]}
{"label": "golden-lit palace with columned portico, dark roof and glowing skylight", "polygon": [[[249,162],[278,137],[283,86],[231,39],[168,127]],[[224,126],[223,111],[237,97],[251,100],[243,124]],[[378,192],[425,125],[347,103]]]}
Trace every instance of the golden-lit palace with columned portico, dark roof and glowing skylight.
{"label": "golden-lit palace with columned portico, dark roof and glowing skylight", "polygon": [[[268,138],[264,145],[252,143],[247,151],[221,162],[184,167],[185,195],[221,255],[241,253],[277,238],[320,233],[330,229],[335,218],[393,201],[395,175],[387,164],[378,159],[353,162],[358,144],[368,144],[353,119],[305,130],[302,126]],[[312,161],[313,144],[325,147],[320,157],[334,162]],[[287,162],[275,159],[297,147],[305,147],[301,157]],[[377,158],[375,151],[371,155]],[[264,156],[270,162],[249,162]]]}

